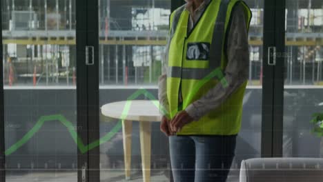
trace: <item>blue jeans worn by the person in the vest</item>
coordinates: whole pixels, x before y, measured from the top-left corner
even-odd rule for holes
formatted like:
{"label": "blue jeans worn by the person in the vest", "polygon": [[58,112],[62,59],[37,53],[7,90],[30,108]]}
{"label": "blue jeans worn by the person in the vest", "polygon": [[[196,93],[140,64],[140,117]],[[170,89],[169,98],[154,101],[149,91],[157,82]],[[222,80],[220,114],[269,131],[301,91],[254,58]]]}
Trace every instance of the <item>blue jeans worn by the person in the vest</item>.
{"label": "blue jeans worn by the person in the vest", "polygon": [[175,182],[225,182],[237,136],[169,136]]}

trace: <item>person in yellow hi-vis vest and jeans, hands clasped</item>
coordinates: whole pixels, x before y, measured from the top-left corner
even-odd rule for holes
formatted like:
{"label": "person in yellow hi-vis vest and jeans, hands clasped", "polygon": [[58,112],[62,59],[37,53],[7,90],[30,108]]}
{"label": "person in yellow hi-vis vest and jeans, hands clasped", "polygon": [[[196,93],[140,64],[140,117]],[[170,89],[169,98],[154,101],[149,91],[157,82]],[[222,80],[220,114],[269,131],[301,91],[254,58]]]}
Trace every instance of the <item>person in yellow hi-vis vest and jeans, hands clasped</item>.
{"label": "person in yellow hi-vis vest and jeans, hands clasped", "polygon": [[186,0],[170,14],[158,96],[175,182],[226,181],[241,127],[251,16],[239,0]]}

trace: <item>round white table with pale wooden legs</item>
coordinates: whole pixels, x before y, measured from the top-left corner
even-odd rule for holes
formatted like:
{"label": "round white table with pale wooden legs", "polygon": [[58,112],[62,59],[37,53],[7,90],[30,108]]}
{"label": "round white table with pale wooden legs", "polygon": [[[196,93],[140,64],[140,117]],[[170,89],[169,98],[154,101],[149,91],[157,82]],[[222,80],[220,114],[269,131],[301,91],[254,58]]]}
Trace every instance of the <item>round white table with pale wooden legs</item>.
{"label": "round white table with pale wooden legs", "polygon": [[141,165],[144,182],[150,181],[151,122],[160,122],[159,101],[120,101],[101,107],[106,117],[122,120],[126,179],[130,179],[133,121],[139,121]]}

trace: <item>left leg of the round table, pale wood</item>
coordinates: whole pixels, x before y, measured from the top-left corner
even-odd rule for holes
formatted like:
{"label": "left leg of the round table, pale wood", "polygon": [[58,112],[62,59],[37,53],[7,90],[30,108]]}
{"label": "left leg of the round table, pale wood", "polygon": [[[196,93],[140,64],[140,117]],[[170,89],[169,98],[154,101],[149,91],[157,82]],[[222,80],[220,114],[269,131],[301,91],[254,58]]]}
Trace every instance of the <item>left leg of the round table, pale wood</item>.
{"label": "left leg of the round table, pale wood", "polygon": [[122,121],[122,134],[124,138],[124,171],[126,180],[130,179],[131,168],[131,136],[133,131],[133,121]]}

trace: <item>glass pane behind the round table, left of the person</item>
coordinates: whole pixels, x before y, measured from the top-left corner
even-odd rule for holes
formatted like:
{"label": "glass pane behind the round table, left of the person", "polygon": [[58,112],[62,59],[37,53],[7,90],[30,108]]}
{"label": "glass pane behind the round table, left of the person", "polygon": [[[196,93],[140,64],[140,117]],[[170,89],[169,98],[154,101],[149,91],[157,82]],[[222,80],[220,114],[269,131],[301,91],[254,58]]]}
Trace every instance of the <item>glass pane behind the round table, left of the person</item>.
{"label": "glass pane behind the round table, left of the person", "polygon": [[[132,99],[157,99],[157,81],[168,33],[169,1],[99,0],[100,106]],[[145,91],[139,91],[143,86]],[[138,92],[139,91],[139,92]],[[146,97],[150,93],[153,97]],[[113,130],[118,119],[101,116],[100,136]],[[126,129],[124,129],[126,130]],[[133,121],[130,138],[130,177],[143,181],[139,122]],[[100,146],[101,181],[124,181],[124,136],[120,129]],[[150,181],[168,181],[168,141],[151,123]]]}

